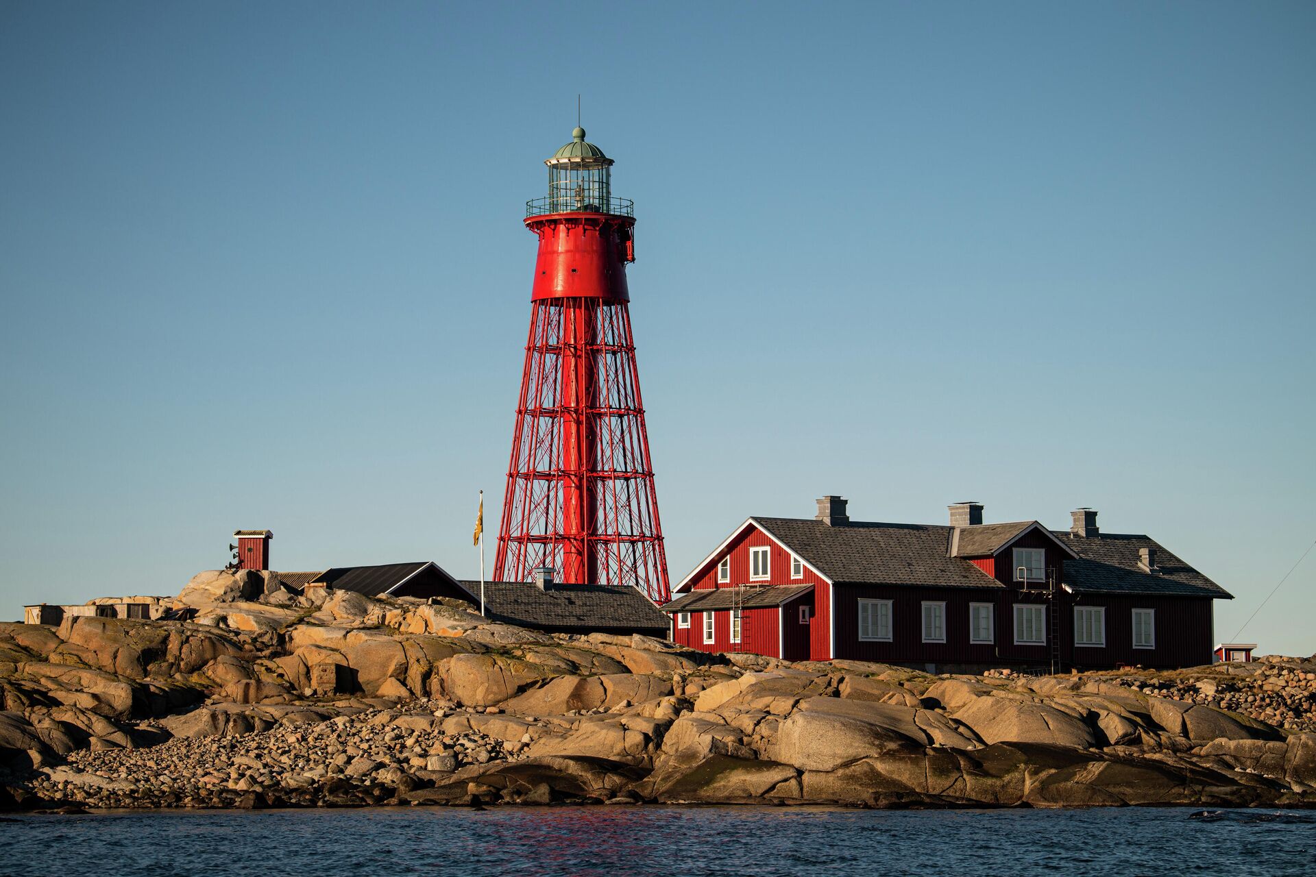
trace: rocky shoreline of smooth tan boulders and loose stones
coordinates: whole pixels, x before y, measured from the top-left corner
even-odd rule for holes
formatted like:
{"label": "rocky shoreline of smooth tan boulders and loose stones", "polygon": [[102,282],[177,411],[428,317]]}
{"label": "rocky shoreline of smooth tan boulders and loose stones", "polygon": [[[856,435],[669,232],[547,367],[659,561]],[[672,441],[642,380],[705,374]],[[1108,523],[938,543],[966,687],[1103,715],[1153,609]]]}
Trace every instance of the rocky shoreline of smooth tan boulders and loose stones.
{"label": "rocky shoreline of smooth tan boulders and loose stones", "polygon": [[929,676],[226,573],[175,609],[0,625],[0,809],[1316,806],[1296,659]]}

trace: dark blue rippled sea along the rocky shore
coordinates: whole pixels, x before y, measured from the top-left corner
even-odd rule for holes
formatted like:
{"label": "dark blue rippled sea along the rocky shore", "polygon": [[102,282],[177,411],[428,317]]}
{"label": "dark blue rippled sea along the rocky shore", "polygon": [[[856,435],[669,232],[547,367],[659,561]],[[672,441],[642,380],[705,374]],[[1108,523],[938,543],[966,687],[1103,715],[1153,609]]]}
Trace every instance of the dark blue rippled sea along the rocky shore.
{"label": "dark blue rippled sea along the rocky shore", "polygon": [[0,873],[1316,874],[1316,813],[507,807],[0,822]]}

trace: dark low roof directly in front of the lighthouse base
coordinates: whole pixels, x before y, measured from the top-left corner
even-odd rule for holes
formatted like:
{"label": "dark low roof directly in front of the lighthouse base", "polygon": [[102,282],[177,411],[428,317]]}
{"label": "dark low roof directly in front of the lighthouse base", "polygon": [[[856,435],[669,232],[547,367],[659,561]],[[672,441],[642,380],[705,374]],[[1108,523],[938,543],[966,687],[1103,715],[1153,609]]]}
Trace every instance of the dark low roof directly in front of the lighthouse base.
{"label": "dark low roof directly in front of the lighthouse base", "polygon": [[[480,582],[461,584],[478,605]],[[667,617],[626,586],[555,581],[549,590],[540,590],[524,581],[486,581],[484,614],[492,621],[553,631],[667,632]]]}

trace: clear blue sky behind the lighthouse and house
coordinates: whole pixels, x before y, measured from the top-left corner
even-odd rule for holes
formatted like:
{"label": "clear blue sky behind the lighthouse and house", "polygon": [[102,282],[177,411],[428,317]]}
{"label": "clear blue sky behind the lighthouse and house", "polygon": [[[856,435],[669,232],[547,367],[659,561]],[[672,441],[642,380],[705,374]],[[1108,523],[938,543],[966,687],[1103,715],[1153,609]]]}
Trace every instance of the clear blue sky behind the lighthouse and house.
{"label": "clear blue sky behind the lighthouse and house", "polygon": [[[0,617],[497,527],[590,139],[672,580],[750,514],[1316,539],[1316,5],[0,1]],[[492,544],[490,546],[492,564]],[[1244,638],[1316,651],[1316,552]]]}

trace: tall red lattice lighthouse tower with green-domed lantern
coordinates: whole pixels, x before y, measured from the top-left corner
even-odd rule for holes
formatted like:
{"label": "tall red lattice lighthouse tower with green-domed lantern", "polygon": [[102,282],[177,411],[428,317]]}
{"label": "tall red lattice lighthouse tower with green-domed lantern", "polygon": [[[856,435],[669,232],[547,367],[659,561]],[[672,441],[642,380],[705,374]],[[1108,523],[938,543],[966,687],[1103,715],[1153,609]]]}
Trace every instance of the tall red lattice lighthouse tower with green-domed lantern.
{"label": "tall red lattice lighthouse tower with green-domed lantern", "polygon": [[671,598],[630,335],[634,209],[612,159],[571,131],[549,195],[525,205],[540,239],[494,577],[551,567],[567,582]]}

